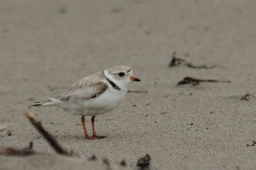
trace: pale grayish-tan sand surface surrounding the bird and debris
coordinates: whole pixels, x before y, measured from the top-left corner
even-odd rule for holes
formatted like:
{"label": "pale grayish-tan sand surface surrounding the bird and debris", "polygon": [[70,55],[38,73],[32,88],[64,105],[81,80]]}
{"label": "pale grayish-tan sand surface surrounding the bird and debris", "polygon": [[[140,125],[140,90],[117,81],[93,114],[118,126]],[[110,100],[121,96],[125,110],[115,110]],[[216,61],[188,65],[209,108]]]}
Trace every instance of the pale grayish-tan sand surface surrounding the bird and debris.
{"label": "pale grayish-tan sand surface surrounding the bird and debris", "polygon": [[[0,1],[0,125],[8,125],[0,146],[33,141],[49,154],[1,156],[0,169],[106,169],[103,158],[134,169],[146,153],[150,169],[255,169],[256,148],[246,144],[256,139],[256,99],[240,100],[256,96],[255,8],[245,0]],[[174,50],[193,65],[217,67],[170,68]],[[108,138],[84,139],[80,116],[57,107],[30,109],[74,158],[56,155],[19,113],[64,91],[52,87],[116,65],[141,79],[130,89],[148,93],[127,93],[96,117],[97,133]],[[184,77],[231,82],[177,87]],[[92,132],[90,117],[86,125]],[[93,154],[96,163],[87,160]]]}

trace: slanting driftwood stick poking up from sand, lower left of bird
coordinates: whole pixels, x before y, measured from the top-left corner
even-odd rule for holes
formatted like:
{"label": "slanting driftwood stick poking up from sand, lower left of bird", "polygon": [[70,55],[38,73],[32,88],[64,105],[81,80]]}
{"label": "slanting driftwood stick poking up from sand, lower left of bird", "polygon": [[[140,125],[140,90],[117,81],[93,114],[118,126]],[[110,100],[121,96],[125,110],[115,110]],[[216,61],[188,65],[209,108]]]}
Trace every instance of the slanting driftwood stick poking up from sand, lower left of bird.
{"label": "slanting driftwood stick poking up from sand, lower left of bird", "polygon": [[57,142],[55,137],[51,135],[47,130],[42,126],[41,121],[37,118],[36,114],[33,112],[28,111],[20,111],[22,114],[24,114],[27,118],[29,118],[30,122],[34,125],[34,127],[42,134],[44,135],[45,139],[51,144],[52,148],[57,153],[63,154],[63,155],[69,155],[67,151],[65,151],[60,144]]}

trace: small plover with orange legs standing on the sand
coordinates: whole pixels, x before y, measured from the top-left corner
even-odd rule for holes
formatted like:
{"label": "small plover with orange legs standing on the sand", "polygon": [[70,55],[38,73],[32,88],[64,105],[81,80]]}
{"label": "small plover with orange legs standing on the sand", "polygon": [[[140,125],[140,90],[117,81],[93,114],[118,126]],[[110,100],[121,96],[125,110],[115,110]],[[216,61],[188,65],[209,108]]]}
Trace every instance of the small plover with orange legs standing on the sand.
{"label": "small plover with orange legs standing on the sand", "polygon": [[[58,97],[37,102],[31,106],[54,105],[61,107],[64,111],[70,111],[74,115],[82,115],[81,121],[86,139],[101,139],[105,136],[96,135],[95,116],[116,109],[124,100],[132,81],[140,81],[140,79],[132,75],[131,68],[114,66],[103,72],[84,77]],[[92,116],[92,136],[87,134],[84,116]]]}

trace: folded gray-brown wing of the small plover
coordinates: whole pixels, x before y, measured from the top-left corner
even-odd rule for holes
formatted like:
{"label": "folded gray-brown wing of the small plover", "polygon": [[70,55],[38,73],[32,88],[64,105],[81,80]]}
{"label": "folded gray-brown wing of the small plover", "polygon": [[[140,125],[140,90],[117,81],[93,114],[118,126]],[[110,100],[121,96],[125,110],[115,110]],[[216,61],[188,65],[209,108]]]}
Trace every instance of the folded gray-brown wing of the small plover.
{"label": "folded gray-brown wing of the small plover", "polygon": [[61,102],[83,102],[84,100],[98,97],[104,93],[106,89],[108,89],[108,84],[105,84],[104,82],[97,82],[86,88],[74,88],[73,91],[68,89],[65,93],[56,98]]}

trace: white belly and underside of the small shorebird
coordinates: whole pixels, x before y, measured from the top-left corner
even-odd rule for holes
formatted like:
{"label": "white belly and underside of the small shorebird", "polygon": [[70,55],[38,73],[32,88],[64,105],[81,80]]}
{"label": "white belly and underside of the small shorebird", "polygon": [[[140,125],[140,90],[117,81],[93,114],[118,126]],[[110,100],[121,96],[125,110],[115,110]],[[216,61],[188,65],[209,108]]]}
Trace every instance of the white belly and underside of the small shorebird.
{"label": "white belly and underside of the small shorebird", "polygon": [[124,100],[125,95],[126,92],[124,91],[107,89],[97,98],[77,103],[63,102],[60,107],[64,111],[70,111],[75,115],[97,116],[116,109]]}

